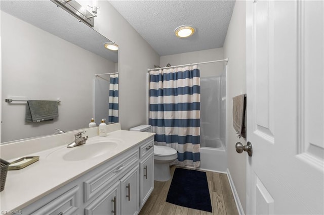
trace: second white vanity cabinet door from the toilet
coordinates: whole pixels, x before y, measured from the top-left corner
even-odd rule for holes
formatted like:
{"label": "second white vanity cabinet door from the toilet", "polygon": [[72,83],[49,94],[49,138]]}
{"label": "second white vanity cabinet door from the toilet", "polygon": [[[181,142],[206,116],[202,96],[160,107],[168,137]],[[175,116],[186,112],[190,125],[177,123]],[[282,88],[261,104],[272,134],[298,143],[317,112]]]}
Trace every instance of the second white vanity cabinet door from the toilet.
{"label": "second white vanity cabinet door from the toilet", "polygon": [[138,166],[120,179],[121,214],[137,214],[139,209]]}

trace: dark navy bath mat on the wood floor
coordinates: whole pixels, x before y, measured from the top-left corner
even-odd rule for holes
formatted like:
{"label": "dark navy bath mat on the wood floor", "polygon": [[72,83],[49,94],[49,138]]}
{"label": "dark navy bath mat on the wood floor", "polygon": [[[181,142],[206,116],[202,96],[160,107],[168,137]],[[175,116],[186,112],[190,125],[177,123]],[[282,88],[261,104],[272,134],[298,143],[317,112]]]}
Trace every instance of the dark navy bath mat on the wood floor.
{"label": "dark navy bath mat on the wood floor", "polygon": [[206,173],[176,168],[167,202],[212,212]]}

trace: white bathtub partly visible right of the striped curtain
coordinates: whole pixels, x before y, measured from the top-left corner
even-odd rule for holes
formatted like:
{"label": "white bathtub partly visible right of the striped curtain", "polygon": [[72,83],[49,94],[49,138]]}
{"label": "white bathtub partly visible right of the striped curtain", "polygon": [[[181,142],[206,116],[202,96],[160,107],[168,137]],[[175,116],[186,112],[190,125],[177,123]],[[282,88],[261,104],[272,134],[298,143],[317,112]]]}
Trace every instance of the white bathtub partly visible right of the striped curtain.
{"label": "white bathtub partly visible right of the striped curtain", "polygon": [[224,144],[220,139],[206,139],[200,144],[200,168],[220,173],[227,171],[227,157]]}

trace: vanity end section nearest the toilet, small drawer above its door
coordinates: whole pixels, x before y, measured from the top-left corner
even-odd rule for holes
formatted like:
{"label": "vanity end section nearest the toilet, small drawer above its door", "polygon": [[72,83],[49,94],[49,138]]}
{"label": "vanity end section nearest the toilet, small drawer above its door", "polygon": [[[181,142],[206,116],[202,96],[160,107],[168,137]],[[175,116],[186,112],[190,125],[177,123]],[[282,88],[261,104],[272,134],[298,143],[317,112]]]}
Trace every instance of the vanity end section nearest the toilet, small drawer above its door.
{"label": "vanity end section nearest the toilet, small drawer above its door", "polygon": [[140,208],[154,189],[154,140],[140,146]]}

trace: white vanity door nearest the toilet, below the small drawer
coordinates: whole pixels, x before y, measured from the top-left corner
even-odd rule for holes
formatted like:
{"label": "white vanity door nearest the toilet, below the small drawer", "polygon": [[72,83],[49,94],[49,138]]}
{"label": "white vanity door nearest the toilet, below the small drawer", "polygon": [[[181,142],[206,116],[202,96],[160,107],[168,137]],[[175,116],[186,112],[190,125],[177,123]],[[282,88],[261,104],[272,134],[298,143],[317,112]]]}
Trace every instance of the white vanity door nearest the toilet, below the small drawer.
{"label": "white vanity door nearest the toilet, below the small drawer", "polygon": [[153,154],[140,163],[140,207],[142,207],[154,188]]}

